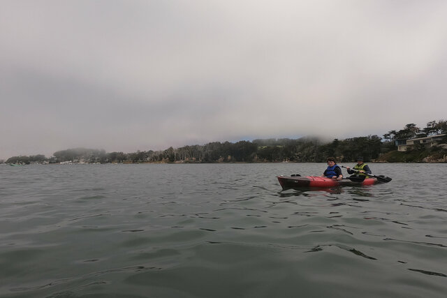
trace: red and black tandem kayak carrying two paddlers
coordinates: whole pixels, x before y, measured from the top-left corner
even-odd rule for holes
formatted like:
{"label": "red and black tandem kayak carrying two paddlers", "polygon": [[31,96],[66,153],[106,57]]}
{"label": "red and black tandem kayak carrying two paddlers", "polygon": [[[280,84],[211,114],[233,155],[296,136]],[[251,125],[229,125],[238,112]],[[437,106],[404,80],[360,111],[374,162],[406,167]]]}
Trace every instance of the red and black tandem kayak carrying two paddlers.
{"label": "red and black tandem kayak carrying two paddlers", "polygon": [[381,179],[362,177],[347,177],[342,180],[330,179],[319,176],[278,176],[279,184],[284,190],[290,188],[327,188],[336,186],[365,186],[381,183]]}

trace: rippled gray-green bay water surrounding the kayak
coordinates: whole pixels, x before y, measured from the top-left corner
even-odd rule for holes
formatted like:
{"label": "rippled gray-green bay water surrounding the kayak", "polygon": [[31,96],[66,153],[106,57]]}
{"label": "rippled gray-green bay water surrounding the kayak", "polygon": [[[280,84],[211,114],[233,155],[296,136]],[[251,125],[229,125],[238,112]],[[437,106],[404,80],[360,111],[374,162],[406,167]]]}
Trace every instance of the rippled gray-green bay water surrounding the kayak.
{"label": "rippled gray-green bay water surrounding the kayak", "polygon": [[0,297],[445,297],[447,165],[370,166],[0,165]]}

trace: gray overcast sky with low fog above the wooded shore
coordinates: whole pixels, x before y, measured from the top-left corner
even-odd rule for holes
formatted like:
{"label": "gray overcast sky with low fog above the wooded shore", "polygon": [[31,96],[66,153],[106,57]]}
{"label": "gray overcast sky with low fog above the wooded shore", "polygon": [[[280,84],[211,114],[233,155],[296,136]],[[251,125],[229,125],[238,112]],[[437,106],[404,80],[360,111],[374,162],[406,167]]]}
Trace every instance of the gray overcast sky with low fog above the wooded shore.
{"label": "gray overcast sky with low fog above the wooded shore", "polygon": [[0,158],[446,119],[447,1],[0,2]]}

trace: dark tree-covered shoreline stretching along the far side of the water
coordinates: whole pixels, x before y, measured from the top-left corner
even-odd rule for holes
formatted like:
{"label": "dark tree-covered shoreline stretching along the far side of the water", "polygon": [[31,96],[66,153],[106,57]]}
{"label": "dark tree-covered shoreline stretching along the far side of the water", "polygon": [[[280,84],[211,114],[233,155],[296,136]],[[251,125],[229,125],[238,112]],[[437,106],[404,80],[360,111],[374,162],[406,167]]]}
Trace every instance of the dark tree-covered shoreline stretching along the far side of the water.
{"label": "dark tree-covered shoreline stretching along the far side of the water", "polygon": [[397,144],[409,140],[447,133],[447,121],[430,121],[420,129],[416,124],[406,124],[400,131],[389,131],[383,137],[368,135],[344,140],[324,142],[317,137],[299,139],[258,139],[239,142],[210,142],[161,151],[136,151],[107,153],[103,149],[75,148],[54,152],[50,158],[13,156],[10,165],[27,164],[103,164],[103,163],[318,163],[334,156],[339,163],[353,162],[357,156],[375,163],[446,163],[447,136],[436,144],[416,144],[406,151],[397,151]]}

